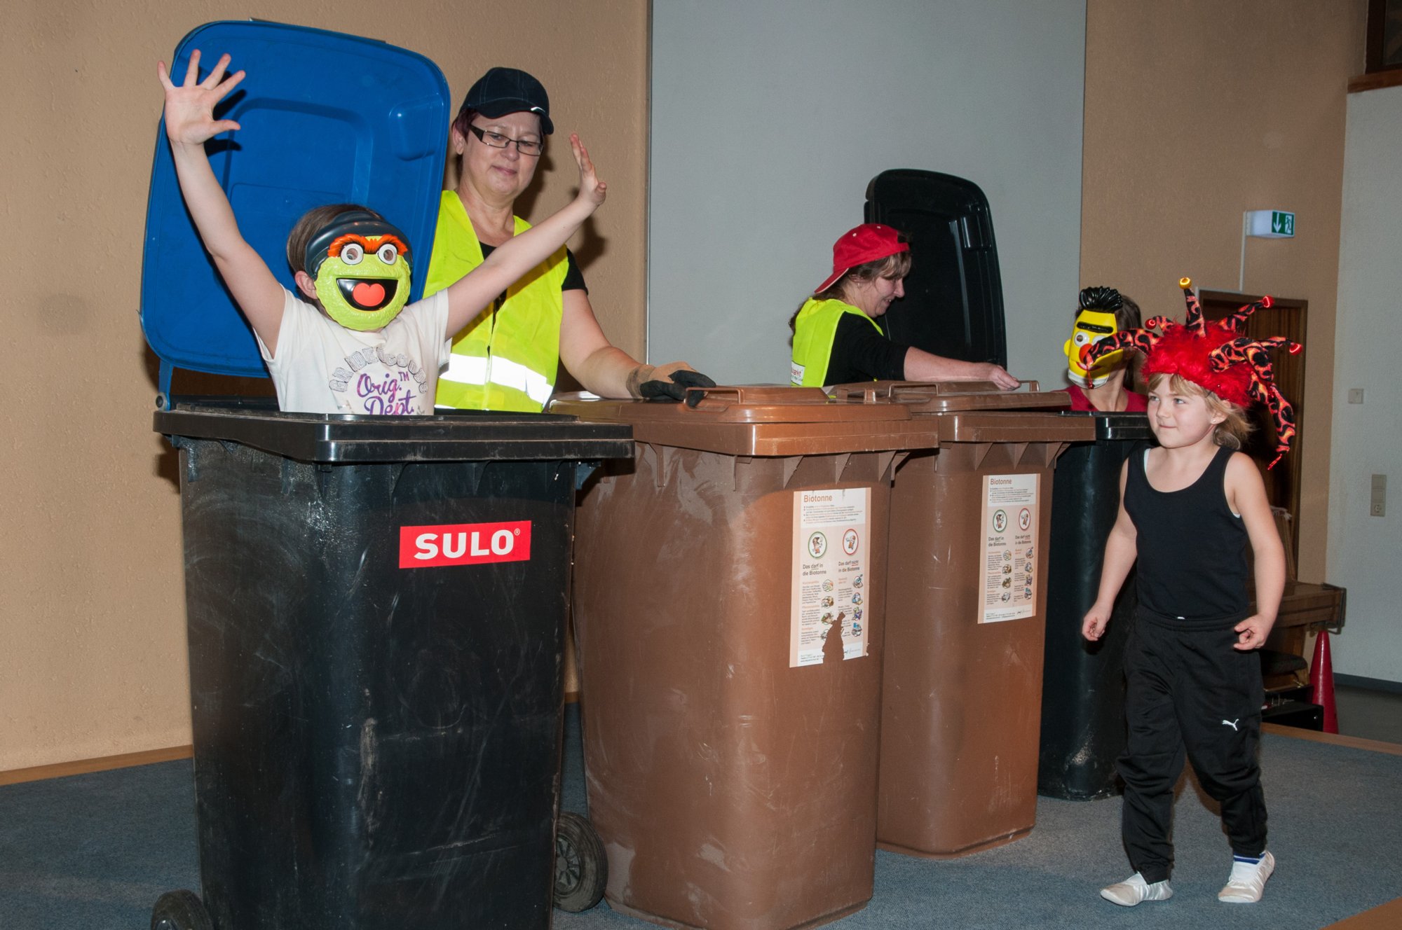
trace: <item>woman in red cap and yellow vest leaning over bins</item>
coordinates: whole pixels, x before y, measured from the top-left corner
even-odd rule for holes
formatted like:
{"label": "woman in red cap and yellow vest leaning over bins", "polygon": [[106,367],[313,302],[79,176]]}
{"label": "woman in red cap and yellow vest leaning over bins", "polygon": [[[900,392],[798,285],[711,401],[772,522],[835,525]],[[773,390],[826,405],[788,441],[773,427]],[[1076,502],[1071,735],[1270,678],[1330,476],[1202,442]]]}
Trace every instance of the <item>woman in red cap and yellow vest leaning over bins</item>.
{"label": "woman in red cap and yellow vest leaning over bins", "polygon": [[794,331],[791,381],[826,387],[851,381],[1019,381],[991,361],[960,361],[901,346],[878,319],[906,296],[910,244],[896,230],[864,223],[833,244],[833,273],[789,319]]}

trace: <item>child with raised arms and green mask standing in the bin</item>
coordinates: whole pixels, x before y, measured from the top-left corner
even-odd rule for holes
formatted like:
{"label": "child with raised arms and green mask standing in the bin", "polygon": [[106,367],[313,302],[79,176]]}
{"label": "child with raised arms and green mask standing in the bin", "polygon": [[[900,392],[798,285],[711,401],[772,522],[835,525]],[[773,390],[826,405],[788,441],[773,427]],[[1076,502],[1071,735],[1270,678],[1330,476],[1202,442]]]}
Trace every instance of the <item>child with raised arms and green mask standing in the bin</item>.
{"label": "child with raised arms and green mask standing in the bin", "polygon": [[578,136],[579,196],[562,210],[496,248],[471,273],[405,307],[409,244],[379,213],[345,203],[317,207],[287,237],[296,272],[293,294],[244,241],[229,199],[215,179],[205,141],[238,123],[213,116],[243,71],[224,77],[229,56],[199,80],[192,52],[185,83],[165,88],[165,134],[181,193],[215,266],[248,318],[283,410],[304,413],[433,413],[439,368],[456,333],[538,265],[604,202]]}

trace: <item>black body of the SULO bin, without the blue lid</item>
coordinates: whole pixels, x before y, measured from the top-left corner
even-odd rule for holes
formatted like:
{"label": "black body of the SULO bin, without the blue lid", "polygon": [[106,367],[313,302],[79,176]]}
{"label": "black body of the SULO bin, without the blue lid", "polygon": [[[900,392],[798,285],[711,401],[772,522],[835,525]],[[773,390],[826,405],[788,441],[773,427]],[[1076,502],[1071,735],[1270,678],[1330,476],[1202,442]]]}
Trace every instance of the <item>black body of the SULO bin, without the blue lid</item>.
{"label": "black body of the SULO bin, without the blue lid", "polygon": [[627,429],[198,403],[156,429],[206,926],[548,927],[573,497]]}

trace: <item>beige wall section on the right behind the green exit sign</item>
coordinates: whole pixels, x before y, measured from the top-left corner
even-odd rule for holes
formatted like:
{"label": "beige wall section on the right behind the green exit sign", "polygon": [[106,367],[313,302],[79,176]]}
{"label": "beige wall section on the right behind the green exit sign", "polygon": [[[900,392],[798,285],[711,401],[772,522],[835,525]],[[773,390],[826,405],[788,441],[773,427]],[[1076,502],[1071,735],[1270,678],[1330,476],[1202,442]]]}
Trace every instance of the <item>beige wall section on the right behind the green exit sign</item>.
{"label": "beige wall section on the right behind the green exit sign", "polygon": [[1300,577],[1323,580],[1347,78],[1366,0],[1089,0],[1081,280],[1182,318],[1178,279],[1309,301]]}

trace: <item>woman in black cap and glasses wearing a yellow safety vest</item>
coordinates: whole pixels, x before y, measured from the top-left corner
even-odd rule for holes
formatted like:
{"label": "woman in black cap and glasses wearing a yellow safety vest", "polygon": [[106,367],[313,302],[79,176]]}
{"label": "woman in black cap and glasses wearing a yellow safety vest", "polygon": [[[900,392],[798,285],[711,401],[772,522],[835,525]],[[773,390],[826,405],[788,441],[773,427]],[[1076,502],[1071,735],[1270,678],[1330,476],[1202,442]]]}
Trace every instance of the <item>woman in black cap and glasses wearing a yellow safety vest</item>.
{"label": "woman in black cap and glasses wearing a yellow safety vest", "polygon": [[[425,297],[530,228],[513,209],[554,129],[545,88],[526,71],[494,67],[467,91],[451,130],[457,189],[444,190],[439,206]],[[687,387],[714,384],[683,361],[641,364],[613,346],[575,256],[561,247],[453,338],[437,406],[540,412],[561,361],[585,388],[610,398],[683,399]]]}

